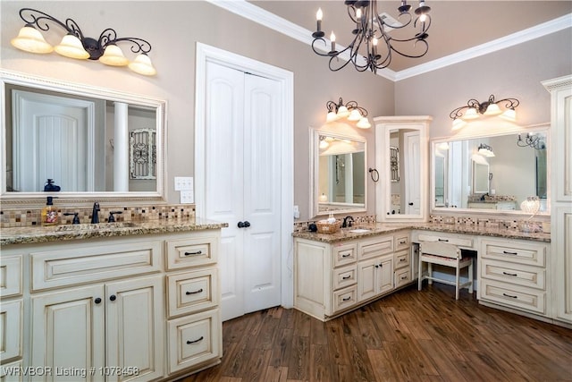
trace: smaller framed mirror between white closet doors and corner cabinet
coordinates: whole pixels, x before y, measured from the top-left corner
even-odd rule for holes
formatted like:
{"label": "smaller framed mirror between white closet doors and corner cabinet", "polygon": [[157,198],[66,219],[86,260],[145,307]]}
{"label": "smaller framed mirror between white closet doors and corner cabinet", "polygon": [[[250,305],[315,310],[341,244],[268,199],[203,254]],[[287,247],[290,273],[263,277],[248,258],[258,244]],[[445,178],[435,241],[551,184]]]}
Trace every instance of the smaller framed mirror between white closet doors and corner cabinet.
{"label": "smaller framed mirror between white closet doors and corner cabinet", "polygon": [[310,129],[310,208],[315,216],[366,211],[366,140]]}

